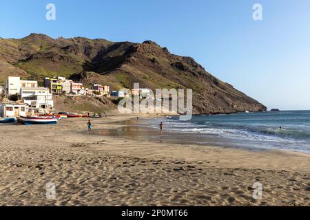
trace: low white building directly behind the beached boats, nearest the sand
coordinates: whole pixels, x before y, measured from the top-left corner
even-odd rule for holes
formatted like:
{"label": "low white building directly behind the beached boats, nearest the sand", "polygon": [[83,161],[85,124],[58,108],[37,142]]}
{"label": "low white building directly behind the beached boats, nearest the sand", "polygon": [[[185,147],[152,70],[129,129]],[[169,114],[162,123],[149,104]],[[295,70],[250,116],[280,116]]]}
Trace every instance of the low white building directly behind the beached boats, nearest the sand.
{"label": "low white building directly behind the beached boats, nearest the sand", "polygon": [[0,104],[0,117],[2,118],[25,116],[26,111],[25,104],[17,104],[14,102]]}

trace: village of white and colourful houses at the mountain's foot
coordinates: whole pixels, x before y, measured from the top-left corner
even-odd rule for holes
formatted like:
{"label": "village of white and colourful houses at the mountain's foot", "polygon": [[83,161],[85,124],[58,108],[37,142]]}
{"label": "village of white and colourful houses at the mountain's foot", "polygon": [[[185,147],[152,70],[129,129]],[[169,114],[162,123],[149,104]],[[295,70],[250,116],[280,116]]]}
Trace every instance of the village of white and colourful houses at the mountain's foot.
{"label": "village of white and colourful houses at the mountain's foot", "polygon": [[110,91],[110,85],[93,84],[91,89],[85,88],[83,83],[61,76],[45,78],[43,87],[38,81],[21,80],[20,77],[9,76],[4,87],[0,87],[0,117],[18,117],[31,115],[45,115],[54,109],[53,96],[92,96],[124,98],[128,96],[149,96],[149,89],[131,89],[124,91]]}

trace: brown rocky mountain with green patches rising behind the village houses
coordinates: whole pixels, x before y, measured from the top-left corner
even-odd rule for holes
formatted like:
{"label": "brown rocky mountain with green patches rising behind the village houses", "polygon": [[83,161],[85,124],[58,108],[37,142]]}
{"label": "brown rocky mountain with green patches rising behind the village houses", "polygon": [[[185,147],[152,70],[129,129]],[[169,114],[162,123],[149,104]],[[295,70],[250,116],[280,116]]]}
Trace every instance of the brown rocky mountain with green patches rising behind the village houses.
{"label": "brown rocky mountain with green patches rising behind the village houses", "polygon": [[104,39],[52,39],[30,34],[0,38],[0,84],[7,76],[42,80],[65,76],[86,85],[103,83],[113,90],[140,87],[193,89],[194,113],[265,111],[258,101],[212,76],[193,58],[171,54],[153,41],[111,42]]}

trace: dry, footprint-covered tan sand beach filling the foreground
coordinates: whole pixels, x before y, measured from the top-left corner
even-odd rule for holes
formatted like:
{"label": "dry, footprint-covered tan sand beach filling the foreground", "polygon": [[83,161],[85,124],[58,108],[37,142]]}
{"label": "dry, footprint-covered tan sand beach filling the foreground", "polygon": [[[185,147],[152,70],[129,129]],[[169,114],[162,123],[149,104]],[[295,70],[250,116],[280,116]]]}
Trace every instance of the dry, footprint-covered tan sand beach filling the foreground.
{"label": "dry, footprint-covered tan sand beach filling the foreground", "polygon": [[[130,116],[0,126],[1,206],[309,206],[310,155],[107,136]],[[254,199],[253,184],[262,184]],[[56,186],[47,199],[46,184]]]}

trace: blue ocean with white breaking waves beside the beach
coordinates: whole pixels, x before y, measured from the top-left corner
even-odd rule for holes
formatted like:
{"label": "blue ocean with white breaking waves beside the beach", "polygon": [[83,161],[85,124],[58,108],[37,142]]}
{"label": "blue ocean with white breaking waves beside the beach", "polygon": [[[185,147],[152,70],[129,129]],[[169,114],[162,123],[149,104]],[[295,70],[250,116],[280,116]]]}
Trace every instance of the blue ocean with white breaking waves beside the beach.
{"label": "blue ocean with white breaking waves beside the beach", "polygon": [[[146,120],[141,122],[141,126],[158,129],[161,121],[165,124],[167,133],[179,133],[179,137],[184,136],[184,143],[190,140],[189,142],[197,144],[215,146],[310,153],[310,111],[195,115],[189,121],[167,117]],[[169,139],[167,133],[166,140]],[[191,134],[194,138],[190,138]]]}

